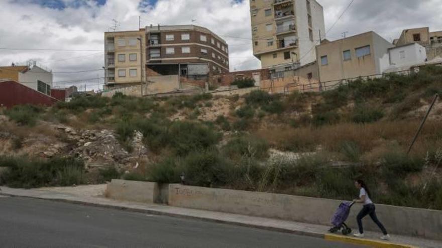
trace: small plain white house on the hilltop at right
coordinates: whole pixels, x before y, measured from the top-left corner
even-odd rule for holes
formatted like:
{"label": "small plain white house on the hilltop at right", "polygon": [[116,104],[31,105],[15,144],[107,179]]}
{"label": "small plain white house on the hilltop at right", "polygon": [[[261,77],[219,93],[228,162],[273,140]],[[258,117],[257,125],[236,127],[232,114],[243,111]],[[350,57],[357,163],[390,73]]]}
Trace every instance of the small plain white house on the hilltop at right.
{"label": "small plain white house on the hilltop at right", "polygon": [[417,43],[390,48],[388,54],[390,66],[384,72],[408,70],[413,65],[425,63],[427,59],[425,47]]}

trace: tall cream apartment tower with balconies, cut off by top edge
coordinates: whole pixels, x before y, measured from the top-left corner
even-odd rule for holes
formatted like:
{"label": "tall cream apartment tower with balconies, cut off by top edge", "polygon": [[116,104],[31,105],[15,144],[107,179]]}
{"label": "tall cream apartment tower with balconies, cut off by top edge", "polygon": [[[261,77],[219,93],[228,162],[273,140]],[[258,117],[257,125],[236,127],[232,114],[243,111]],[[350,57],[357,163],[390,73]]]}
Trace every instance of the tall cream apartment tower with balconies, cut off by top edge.
{"label": "tall cream apartment tower with balconies, cut off by top edge", "polygon": [[316,60],[325,35],[324,13],[316,0],[250,0],[253,54],[262,68],[289,70]]}

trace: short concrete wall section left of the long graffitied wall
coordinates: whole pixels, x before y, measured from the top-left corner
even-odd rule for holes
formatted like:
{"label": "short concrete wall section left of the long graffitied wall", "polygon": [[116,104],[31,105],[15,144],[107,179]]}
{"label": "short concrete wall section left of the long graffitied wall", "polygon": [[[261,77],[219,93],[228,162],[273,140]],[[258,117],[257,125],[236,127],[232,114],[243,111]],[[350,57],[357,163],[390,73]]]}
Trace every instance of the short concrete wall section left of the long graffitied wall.
{"label": "short concrete wall section left of the long graffitied wall", "polygon": [[155,182],[112,179],[107,184],[105,195],[115,200],[154,203],[159,195],[159,189]]}

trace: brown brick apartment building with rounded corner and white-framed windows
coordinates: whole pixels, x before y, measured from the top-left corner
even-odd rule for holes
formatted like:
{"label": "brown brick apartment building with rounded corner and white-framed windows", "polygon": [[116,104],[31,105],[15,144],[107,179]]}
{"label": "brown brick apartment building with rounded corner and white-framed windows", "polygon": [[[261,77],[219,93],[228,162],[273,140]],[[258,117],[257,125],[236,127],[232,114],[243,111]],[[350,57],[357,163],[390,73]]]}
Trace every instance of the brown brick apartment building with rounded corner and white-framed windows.
{"label": "brown brick apartment building with rounded corner and white-framed windows", "polygon": [[207,76],[229,72],[225,40],[195,25],[146,27],[148,74]]}

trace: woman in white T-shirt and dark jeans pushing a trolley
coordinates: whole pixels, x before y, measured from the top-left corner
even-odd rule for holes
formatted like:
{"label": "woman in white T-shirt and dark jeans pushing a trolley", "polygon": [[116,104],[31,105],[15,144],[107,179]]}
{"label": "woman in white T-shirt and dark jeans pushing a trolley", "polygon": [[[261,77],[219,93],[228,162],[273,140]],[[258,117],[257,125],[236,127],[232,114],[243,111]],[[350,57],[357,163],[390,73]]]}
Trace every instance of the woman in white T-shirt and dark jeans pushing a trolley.
{"label": "woman in white T-shirt and dark jeans pushing a trolley", "polygon": [[359,212],[356,219],[358,220],[358,226],[359,226],[359,233],[354,233],[353,235],[355,237],[364,237],[364,229],[362,227],[362,218],[365,216],[370,215],[371,219],[379,226],[379,228],[382,230],[382,233],[384,235],[381,236],[381,239],[388,240],[390,239],[390,235],[387,233],[387,230],[385,229],[384,225],[379,221],[378,217],[376,216],[376,206],[373,204],[373,201],[370,199],[370,190],[368,189],[367,185],[363,180],[357,180],[355,181],[356,188],[359,189],[359,199],[354,199],[353,202],[362,203],[363,207],[362,210]]}

